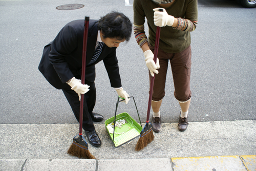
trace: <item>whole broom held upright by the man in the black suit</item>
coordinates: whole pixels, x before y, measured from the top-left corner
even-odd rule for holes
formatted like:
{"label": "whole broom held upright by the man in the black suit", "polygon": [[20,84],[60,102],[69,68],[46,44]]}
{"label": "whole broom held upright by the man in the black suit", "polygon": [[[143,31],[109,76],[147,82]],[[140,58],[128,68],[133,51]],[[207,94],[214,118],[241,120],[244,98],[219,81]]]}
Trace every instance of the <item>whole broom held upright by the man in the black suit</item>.
{"label": "whole broom held upright by the man in the black suit", "polygon": [[[86,16],[84,18],[82,74],[81,74],[81,83],[82,84],[84,84],[84,79],[85,79],[85,74],[86,74],[86,49],[87,49],[89,20],[90,20],[89,16]],[[70,154],[72,156],[76,156],[78,158],[95,159],[95,157],[89,152],[88,144],[82,136],[83,96],[84,96],[84,94],[81,94],[80,116],[79,116],[79,134],[73,138],[73,143],[69,147],[68,154]]]}

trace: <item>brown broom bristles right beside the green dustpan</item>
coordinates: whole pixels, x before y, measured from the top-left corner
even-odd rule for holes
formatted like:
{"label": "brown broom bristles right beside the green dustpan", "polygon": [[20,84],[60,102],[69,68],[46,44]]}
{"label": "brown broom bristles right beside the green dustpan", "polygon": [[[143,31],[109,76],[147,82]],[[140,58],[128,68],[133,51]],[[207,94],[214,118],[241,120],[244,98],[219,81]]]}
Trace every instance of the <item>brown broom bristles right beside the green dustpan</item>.
{"label": "brown broom bristles right beside the green dustpan", "polygon": [[140,151],[141,149],[146,147],[148,143],[151,143],[153,140],[154,140],[154,134],[151,128],[150,130],[146,131],[140,136],[136,144],[135,150]]}

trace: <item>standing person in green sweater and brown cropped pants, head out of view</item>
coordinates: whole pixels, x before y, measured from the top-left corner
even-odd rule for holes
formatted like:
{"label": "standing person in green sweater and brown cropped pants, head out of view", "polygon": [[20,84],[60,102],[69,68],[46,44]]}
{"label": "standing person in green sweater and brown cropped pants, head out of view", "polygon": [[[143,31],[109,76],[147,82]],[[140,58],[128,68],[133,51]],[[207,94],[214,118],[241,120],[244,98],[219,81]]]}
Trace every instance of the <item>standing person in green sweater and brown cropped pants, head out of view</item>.
{"label": "standing person in green sweater and brown cropped pants, head out of view", "polygon": [[[161,129],[160,106],[165,95],[165,81],[168,62],[173,73],[174,96],[181,112],[178,129],[187,129],[187,115],[191,100],[190,68],[191,38],[198,23],[197,0],[134,0],[134,34],[142,49],[149,75],[155,75],[152,96],[152,126],[158,133]],[[163,12],[159,11],[163,9]],[[144,31],[145,18],[148,25],[148,38]],[[157,26],[161,27],[157,62],[154,46]]]}

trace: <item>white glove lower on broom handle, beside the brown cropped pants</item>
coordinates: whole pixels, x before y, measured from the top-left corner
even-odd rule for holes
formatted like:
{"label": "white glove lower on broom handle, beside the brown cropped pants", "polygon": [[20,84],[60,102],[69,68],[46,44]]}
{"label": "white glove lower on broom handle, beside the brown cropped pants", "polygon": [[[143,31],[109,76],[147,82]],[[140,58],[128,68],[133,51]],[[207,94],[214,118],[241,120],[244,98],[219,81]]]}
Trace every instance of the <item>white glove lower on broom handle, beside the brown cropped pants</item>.
{"label": "white glove lower on broom handle, beside the brown cropped pants", "polygon": [[150,70],[151,76],[154,77],[154,73],[158,74],[157,69],[160,68],[159,60],[157,58],[157,62],[154,62],[154,54],[151,50],[147,50],[144,52],[146,66],[148,70]]}

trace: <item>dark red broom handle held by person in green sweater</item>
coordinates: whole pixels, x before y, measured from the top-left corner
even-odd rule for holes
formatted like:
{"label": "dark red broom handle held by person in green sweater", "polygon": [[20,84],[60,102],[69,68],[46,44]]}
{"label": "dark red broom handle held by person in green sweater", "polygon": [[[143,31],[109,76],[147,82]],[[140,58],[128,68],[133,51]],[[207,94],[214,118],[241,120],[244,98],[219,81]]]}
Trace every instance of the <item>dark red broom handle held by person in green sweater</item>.
{"label": "dark red broom handle held by person in green sweater", "polygon": [[[160,8],[159,11],[163,11],[163,10]],[[159,45],[159,39],[160,39],[160,31],[161,31],[161,28],[157,27],[155,51],[154,51],[154,62],[155,63],[157,62],[157,54],[158,54],[158,45]],[[155,74],[154,74],[154,77],[151,76],[151,81],[150,81],[150,97],[148,98],[146,123],[148,123],[150,121],[150,109],[151,109],[151,101],[152,101],[152,95],[153,95],[154,80],[155,80]]]}

